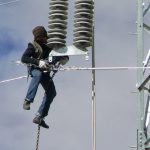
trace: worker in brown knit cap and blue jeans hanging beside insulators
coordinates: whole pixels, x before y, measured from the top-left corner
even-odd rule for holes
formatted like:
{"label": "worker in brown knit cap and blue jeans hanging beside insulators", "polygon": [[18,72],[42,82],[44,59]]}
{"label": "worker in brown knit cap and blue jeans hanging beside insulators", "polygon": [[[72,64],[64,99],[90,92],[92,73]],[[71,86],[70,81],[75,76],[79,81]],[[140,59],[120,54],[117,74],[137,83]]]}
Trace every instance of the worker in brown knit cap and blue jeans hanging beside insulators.
{"label": "worker in brown knit cap and blue jeans hanging beside insulators", "polygon": [[44,128],[49,128],[45,123],[44,118],[48,115],[50,105],[56,96],[56,89],[53,79],[50,76],[50,72],[47,71],[47,69],[56,63],[65,65],[68,62],[69,57],[55,57],[51,63],[45,61],[52,51],[52,48],[47,46],[47,31],[43,26],[37,26],[32,30],[32,33],[34,41],[28,43],[28,47],[21,57],[22,63],[27,64],[29,74],[31,75],[31,82],[23,103],[23,109],[30,110],[30,105],[34,102],[38,86],[41,84],[45,94],[36,116],[33,119],[33,123]]}

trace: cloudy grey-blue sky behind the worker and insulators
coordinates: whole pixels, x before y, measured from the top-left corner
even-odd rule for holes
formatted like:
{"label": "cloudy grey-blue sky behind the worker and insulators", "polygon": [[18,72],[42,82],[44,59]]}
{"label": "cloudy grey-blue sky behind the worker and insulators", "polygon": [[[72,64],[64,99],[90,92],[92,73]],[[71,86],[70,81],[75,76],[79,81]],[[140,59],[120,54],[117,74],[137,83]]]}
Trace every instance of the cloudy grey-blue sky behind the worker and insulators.
{"label": "cloudy grey-blue sky behind the worker and insulators", "polygon": [[[20,60],[28,42],[33,40],[35,26],[48,29],[49,2],[20,0],[0,5],[0,81],[27,74],[25,66],[13,61]],[[68,45],[73,41],[74,2],[69,0]],[[136,66],[136,9],[136,0],[95,0],[96,67]],[[149,22],[148,14],[145,21]],[[146,55],[149,39],[147,34],[145,37]],[[91,56],[91,48],[89,53]],[[90,67],[91,57],[86,61],[84,56],[70,56],[66,66]],[[136,70],[96,71],[97,150],[130,150],[136,146],[136,76]],[[41,128],[39,149],[92,149],[91,77],[91,71],[56,74],[57,96],[45,120],[50,129]],[[37,126],[32,119],[44,92],[40,86],[31,110],[23,110],[29,81],[20,79],[0,84],[1,150],[35,149]]]}

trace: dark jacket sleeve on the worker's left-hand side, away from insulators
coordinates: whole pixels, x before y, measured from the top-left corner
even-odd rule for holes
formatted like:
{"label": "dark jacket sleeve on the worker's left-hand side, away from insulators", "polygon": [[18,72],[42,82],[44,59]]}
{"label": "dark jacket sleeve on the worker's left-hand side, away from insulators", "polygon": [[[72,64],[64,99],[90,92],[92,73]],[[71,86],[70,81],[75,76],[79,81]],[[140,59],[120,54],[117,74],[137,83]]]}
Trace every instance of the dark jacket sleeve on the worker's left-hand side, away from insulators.
{"label": "dark jacket sleeve on the worker's left-hand side, away from insulators", "polygon": [[35,48],[31,43],[28,44],[27,49],[23,53],[21,62],[25,64],[39,65],[39,60],[35,58]]}

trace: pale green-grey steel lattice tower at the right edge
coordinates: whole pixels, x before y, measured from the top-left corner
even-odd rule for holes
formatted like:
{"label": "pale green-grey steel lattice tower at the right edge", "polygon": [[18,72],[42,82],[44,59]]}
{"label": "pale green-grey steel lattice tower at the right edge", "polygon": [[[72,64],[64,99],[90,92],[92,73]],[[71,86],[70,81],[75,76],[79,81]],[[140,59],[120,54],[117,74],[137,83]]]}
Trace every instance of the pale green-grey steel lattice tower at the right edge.
{"label": "pale green-grey steel lattice tower at the right edge", "polygon": [[[144,23],[144,16],[150,8],[145,8],[144,0],[137,1],[137,67],[146,67],[150,59],[150,50],[144,59],[144,29],[150,31],[150,27]],[[150,75],[145,77],[145,69],[137,70],[137,87],[138,87],[138,130],[137,130],[137,150],[150,150],[150,138],[148,137],[149,124],[149,100],[150,87],[148,81]],[[147,95],[146,95],[147,92]]]}

